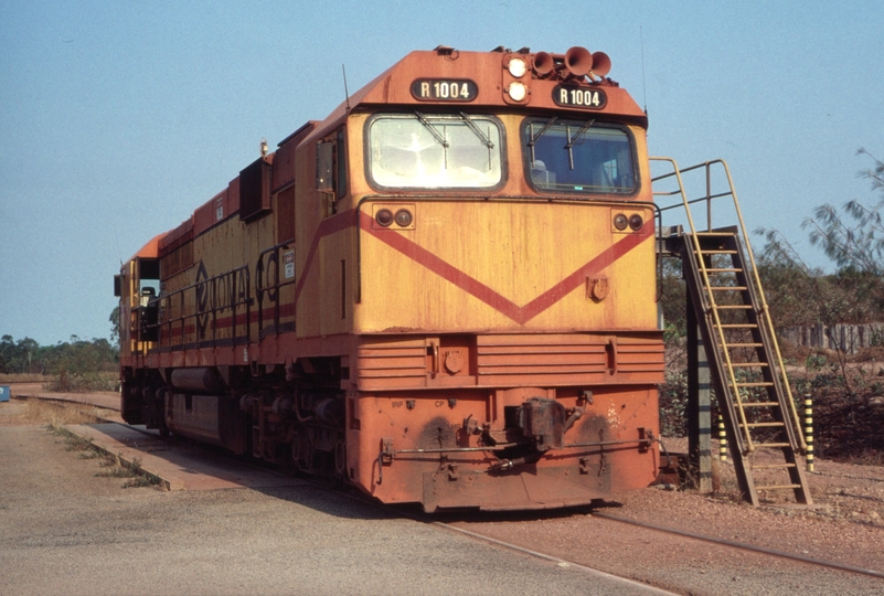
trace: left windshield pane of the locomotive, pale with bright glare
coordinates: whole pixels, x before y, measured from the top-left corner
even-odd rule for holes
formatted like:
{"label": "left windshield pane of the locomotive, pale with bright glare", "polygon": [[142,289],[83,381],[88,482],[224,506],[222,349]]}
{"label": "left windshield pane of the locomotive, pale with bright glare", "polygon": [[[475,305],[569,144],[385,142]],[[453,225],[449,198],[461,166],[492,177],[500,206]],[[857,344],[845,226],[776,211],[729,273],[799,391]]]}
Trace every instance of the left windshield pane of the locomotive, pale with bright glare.
{"label": "left windshield pane of the locomotive, pale with bright glare", "polygon": [[487,116],[376,116],[369,150],[369,173],[381,187],[484,189],[502,180],[500,126]]}

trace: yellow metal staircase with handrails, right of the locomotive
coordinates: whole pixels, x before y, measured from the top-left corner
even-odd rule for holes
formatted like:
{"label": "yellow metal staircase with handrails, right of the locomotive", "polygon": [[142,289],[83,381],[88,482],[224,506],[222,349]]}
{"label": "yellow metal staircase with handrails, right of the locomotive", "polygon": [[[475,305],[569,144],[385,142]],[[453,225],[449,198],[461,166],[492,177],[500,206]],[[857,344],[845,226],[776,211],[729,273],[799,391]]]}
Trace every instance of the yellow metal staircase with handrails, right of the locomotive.
{"label": "yellow metal staircase with handrails, right of the locomotive", "polygon": [[[811,504],[799,461],[807,445],[727,166],[713,161],[679,170],[673,160],[661,160],[672,171],[654,182],[670,179],[677,189],[654,194],[680,195],[686,215],[690,233],[681,234],[673,248],[682,260],[741,492],[754,505],[759,492],[770,491],[792,491],[797,502]],[[728,188],[713,194],[710,170],[716,166]],[[705,171],[706,193],[692,201],[682,174],[696,170]],[[732,198],[738,226],[712,228],[711,202],[722,196]],[[704,232],[691,214],[699,202],[706,204]]]}

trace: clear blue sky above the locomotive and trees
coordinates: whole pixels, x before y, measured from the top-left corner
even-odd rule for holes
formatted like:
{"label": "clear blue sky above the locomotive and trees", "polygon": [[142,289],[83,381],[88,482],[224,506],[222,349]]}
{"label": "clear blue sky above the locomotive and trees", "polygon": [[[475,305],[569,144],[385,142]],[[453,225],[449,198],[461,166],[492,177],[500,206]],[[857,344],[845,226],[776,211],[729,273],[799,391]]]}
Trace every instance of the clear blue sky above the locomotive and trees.
{"label": "clear blue sky above the locomotive and trees", "polygon": [[[746,224],[871,203],[884,2],[0,0],[0,334],[109,336],[121,259],[412,50],[604,51],[653,155],[727,160]],[[758,237],[754,242],[760,245]]]}

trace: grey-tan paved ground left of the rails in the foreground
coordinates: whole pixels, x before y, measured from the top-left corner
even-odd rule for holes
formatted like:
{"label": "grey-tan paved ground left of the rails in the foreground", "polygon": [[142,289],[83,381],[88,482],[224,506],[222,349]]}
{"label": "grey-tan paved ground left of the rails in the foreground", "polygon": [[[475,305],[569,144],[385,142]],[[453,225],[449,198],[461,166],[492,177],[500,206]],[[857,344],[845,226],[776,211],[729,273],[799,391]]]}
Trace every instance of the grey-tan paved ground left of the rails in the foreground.
{"label": "grey-tan paved ground left of the rails in the foreground", "polygon": [[32,414],[0,404],[3,595],[654,593],[307,482],[123,488]]}

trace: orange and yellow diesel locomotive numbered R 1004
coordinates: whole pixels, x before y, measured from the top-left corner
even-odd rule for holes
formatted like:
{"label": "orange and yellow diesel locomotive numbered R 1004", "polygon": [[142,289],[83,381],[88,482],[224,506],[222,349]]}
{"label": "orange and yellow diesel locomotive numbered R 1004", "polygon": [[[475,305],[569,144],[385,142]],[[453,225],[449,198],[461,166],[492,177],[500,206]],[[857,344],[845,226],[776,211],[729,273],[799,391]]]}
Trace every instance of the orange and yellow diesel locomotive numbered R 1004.
{"label": "orange and yellow diesel locomotive numbered R 1004", "polygon": [[427,511],[648,486],[647,118],[609,66],[413,52],[264,145],[117,277],[125,419]]}

